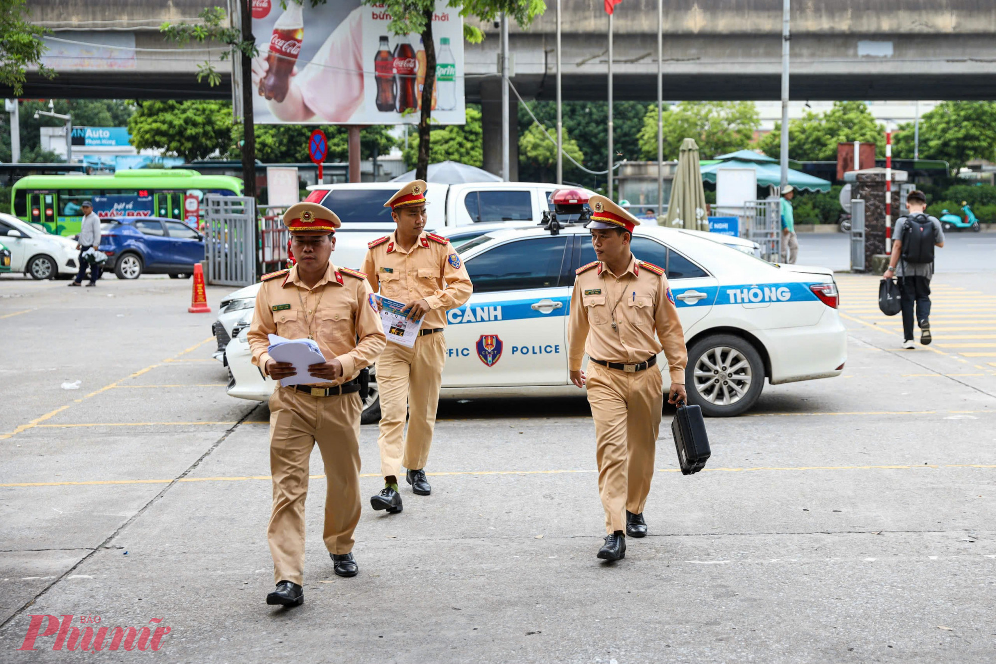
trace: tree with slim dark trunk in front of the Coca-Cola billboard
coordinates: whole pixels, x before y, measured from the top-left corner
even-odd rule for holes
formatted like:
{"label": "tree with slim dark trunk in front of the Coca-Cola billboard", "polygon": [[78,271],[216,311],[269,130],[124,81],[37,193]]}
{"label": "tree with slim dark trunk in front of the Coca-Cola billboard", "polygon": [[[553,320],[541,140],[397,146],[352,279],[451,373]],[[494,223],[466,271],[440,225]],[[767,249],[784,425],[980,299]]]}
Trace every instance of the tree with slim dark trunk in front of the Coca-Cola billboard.
{"label": "tree with slim dark trunk in front of the Coca-Cola billboard", "polygon": [[[432,134],[436,131],[429,126],[432,116],[432,88],[436,80],[435,42],[432,39],[435,0],[364,0],[364,4],[376,5],[390,14],[391,20],[387,30],[391,34],[416,34],[422,38],[425,49],[425,83],[418,117],[415,177],[424,179],[425,169],[431,161]],[[543,0],[449,0],[447,6],[458,10],[461,17],[471,16],[484,22],[493,21],[501,13],[505,13],[522,28],[528,27],[533,19],[547,8]],[[463,37],[468,42],[476,44],[484,39],[484,33],[476,26],[464,22]]]}

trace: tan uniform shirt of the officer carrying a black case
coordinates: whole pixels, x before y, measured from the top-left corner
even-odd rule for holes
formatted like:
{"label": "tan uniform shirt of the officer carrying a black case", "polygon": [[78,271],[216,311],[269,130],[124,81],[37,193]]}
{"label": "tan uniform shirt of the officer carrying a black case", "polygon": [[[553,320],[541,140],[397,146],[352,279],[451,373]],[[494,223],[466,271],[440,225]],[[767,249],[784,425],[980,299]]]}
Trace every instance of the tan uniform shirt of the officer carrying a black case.
{"label": "tan uniform shirt of the officer carrying a black case", "polygon": [[572,371],[581,369],[586,352],[607,362],[636,364],[663,350],[671,382],[684,383],[688,351],[673,296],[667,278],[647,265],[630,258],[619,277],[604,263],[580,269],[568,330]]}

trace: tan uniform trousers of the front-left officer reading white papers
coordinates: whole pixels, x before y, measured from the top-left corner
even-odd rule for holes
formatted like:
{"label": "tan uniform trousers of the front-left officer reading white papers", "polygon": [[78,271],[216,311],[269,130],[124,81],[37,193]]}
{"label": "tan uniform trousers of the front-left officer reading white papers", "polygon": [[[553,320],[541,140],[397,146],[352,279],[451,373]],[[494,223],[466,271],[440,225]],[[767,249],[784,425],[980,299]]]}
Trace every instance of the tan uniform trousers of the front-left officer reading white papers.
{"label": "tan uniform trousers of the front-left officer reading white papers", "polygon": [[360,394],[311,396],[278,387],[270,397],[273,513],[267,540],[276,582],[303,585],[308,462],[318,444],[325,465],[325,531],[330,553],[353,551],[360,521]]}

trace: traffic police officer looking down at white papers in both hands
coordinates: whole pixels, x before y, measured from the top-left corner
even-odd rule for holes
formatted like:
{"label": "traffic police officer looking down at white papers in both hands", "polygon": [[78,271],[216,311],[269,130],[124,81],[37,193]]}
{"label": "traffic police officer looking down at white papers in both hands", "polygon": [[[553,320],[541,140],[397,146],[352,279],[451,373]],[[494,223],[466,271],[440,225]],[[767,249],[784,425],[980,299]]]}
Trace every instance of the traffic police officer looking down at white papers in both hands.
{"label": "traffic police officer looking down at white papers in both hands", "polygon": [[267,528],[277,589],[266,603],[304,601],[305,497],[308,461],[317,443],[326,474],[325,546],[340,576],[358,571],[353,531],[360,521],[361,369],[385,343],[370,306],[362,272],[330,261],[341,222],[317,203],[297,203],[284,213],[297,264],[263,277],[249,329],[252,361],[275,380],[295,375],[294,365],[270,357],[268,334],[311,338],[326,361],[309,372],[322,381],[278,386],[270,397],[270,470],[273,513]]}

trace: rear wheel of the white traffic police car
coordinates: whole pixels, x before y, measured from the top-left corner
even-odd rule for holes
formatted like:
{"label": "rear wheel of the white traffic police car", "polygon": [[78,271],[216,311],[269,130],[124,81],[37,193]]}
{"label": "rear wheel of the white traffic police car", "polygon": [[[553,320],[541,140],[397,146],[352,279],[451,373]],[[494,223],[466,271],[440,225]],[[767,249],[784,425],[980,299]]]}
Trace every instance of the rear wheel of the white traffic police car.
{"label": "rear wheel of the white traffic police car", "polygon": [[688,349],[685,369],[688,402],[709,417],[739,415],[757,402],[764,388],[764,362],[746,339],[714,334]]}

